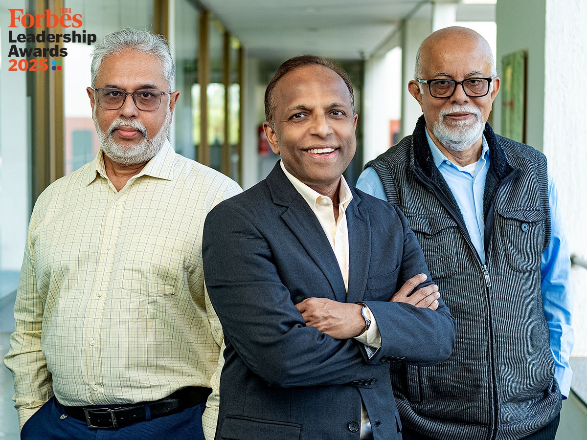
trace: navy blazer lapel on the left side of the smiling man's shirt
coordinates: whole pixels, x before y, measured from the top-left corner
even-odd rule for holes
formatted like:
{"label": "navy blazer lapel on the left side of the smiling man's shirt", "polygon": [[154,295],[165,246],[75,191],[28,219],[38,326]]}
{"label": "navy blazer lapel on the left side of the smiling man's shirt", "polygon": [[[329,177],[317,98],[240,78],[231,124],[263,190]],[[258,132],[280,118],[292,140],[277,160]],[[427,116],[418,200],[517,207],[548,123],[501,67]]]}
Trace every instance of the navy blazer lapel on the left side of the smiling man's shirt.
{"label": "navy blazer lapel on the left side of the smiling man's shirt", "polygon": [[285,176],[279,162],[265,181],[273,202],[286,207],[281,218],[328,279],[334,298],[337,301],[346,302],[345,282],[342,279],[338,260],[336,260],[330,242],[316,215]]}

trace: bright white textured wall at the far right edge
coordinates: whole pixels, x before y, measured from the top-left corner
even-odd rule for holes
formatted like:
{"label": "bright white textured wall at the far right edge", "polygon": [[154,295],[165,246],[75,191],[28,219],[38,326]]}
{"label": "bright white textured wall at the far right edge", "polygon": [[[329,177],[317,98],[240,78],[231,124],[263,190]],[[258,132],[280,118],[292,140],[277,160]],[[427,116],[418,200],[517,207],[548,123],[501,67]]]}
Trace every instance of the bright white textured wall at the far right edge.
{"label": "bright white textured wall at the far right edge", "polygon": [[[558,187],[569,250],[587,257],[587,2],[547,0],[544,153]],[[572,271],[575,350],[587,356],[587,270]]]}

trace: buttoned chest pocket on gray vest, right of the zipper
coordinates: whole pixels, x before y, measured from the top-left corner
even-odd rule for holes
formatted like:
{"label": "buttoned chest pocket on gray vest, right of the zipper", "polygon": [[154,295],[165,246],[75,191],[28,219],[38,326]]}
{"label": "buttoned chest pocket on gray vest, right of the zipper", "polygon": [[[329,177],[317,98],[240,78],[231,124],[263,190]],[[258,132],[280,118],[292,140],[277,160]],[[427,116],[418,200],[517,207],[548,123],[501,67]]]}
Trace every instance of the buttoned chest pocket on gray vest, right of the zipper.
{"label": "buttoned chest pocket on gray vest, right of the zipper", "polygon": [[546,214],[537,209],[497,209],[493,239],[516,272],[540,268]]}

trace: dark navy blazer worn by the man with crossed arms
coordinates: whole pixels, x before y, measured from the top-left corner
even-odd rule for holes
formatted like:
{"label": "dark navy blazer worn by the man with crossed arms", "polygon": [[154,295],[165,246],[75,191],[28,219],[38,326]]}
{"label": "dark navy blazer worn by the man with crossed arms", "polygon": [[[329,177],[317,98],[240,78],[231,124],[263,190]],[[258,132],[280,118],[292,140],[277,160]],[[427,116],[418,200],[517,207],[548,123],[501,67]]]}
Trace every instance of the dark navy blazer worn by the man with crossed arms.
{"label": "dark navy blazer worn by the man with crossed arms", "polygon": [[[322,226],[279,163],[208,214],[204,278],[227,346],[216,439],[358,440],[361,400],[375,440],[400,439],[389,361],[432,365],[453,351],[455,322],[442,300],[436,311],[389,302],[428,273],[406,218],[351,191],[348,293]],[[365,302],[381,333],[375,356],[306,327],[294,304],[308,297]]]}

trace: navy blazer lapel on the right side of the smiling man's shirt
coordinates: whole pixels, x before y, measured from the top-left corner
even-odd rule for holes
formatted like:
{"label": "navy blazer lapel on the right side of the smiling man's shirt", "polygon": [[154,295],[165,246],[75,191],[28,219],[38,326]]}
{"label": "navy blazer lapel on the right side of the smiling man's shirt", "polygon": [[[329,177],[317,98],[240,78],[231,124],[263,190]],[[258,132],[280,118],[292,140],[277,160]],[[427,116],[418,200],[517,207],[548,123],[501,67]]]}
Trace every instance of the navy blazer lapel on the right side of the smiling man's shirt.
{"label": "navy blazer lapel on the right side of the smiling man's shirt", "polygon": [[363,300],[367,287],[367,272],[371,256],[371,229],[369,218],[362,215],[360,197],[353,189],[353,200],[346,209],[349,226],[349,291],[347,302]]}

